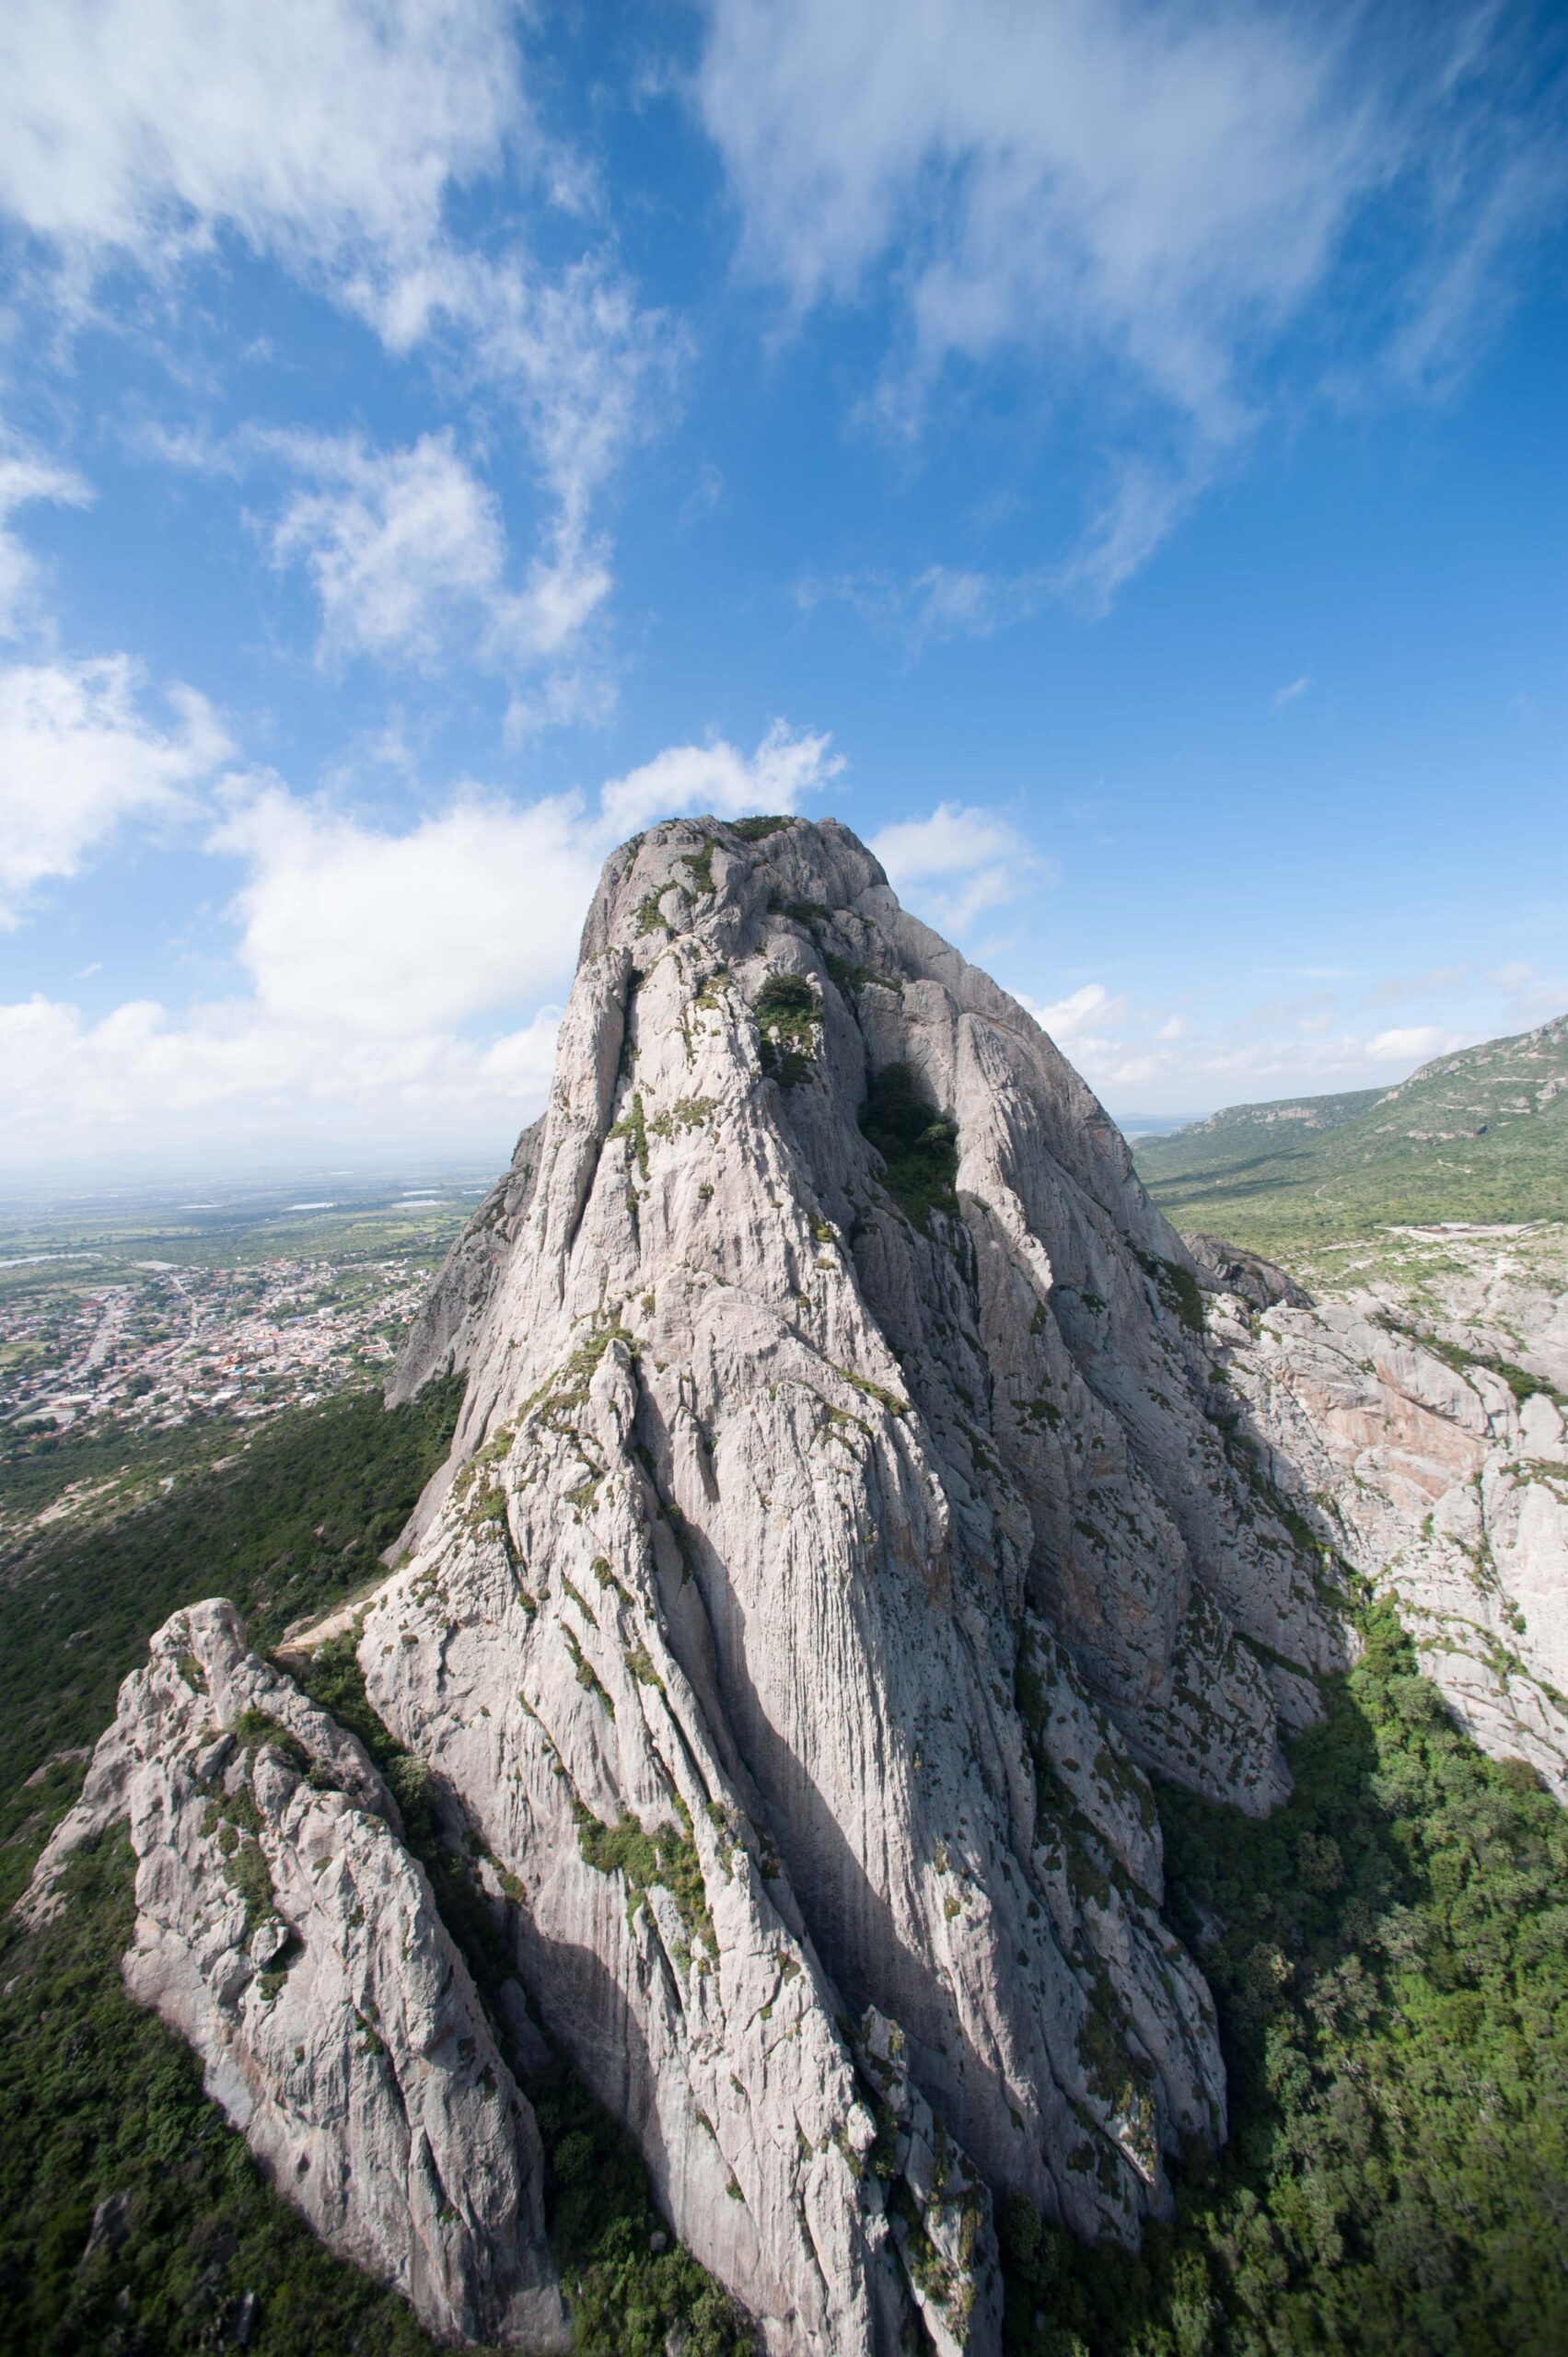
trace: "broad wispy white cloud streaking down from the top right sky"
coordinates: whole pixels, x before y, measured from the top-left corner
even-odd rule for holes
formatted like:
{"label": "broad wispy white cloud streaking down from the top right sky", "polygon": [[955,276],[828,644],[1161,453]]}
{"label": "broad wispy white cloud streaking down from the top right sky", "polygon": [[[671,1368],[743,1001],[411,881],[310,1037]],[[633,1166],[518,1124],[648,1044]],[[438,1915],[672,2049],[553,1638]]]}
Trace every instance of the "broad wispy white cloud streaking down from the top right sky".
{"label": "broad wispy white cloud streaking down from the top right sky", "polygon": [[[1261,363],[1309,304],[1342,297],[1320,349],[1382,339],[1386,372],[1427,375],[1561,184],[1551,125],[1507,97],[1504,12],[1455,12],[1398,71],[1372,12],[1266,0],[707,0],[707,19],[698,106],[743,259],[795,316],[891,302],[882,415],[915,424],[955,361],[1023,356],[1047,398],[1085,387],[1125,434],[1139,403],[1155,417],[1061,570],[1092,606],[1254,427]],[[1375,292],[1337,280],[1372,207],[1398,210],[1403,262]]]}

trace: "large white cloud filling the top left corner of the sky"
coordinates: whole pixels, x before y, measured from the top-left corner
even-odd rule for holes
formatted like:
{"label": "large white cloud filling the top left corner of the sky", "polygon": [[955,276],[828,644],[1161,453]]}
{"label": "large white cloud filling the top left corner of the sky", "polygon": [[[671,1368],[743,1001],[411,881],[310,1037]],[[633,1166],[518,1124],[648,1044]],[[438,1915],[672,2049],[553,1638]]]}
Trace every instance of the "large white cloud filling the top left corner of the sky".
{"label": "large white cloud filling the top left corner of the sky", "polygon": [[90,264],[231,229],[382,288],[523,127],[502,0],[14,0],[0,205]]}

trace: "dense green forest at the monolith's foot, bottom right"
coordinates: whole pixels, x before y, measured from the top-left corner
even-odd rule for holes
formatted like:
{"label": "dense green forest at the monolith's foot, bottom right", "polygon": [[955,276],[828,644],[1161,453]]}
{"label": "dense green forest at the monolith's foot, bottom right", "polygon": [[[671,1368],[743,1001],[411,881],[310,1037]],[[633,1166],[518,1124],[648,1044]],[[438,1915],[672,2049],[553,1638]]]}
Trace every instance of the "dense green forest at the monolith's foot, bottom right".
{"label": "dense green forest at the monolith's foot, bottom right", "polygon": [[1365,1633],[1287,1808],[1160,1794],[1231,2143],[1137,2258],[1004,2204],[1009,2357],[1568,2348],[1568,1820]]}

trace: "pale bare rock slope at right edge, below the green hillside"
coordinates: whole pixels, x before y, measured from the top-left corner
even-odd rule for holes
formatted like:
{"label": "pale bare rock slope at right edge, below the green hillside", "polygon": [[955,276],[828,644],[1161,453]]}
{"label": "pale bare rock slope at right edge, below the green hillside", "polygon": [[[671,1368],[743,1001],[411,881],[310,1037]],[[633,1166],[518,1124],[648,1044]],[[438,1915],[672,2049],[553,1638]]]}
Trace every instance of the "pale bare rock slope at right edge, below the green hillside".
{"label": "pale bare rock slope at right edge, below the green hillside", "polygon": [[1410,1259],[1415,1289],[1349,1273],[1316,1306],[1217,1301],[1228,1414],[1394,1591],[1460,1725],[1568,1801],[1568,1237],[1476,1230]]}

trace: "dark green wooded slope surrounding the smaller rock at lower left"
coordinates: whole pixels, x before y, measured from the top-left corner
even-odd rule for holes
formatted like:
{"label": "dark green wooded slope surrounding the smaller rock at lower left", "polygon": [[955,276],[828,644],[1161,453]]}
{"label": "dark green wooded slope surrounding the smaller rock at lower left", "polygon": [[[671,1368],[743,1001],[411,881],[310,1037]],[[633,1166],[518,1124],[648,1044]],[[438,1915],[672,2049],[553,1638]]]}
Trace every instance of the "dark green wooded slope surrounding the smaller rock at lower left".
{"label": "dark green wooded slope surrounding the smaller rock at lower left", "polygon": [[[457,1407],[431,1386],[387,1414],[375,1395],[278,1417],[241,1464],[108,1530],[61,1532],[0,1582],[0,1904],[9,1904],[146,1636],[179,1603],[226,1593],[252,1636],[354,1593],[446,1452]],[[436,1834],[417,1763],[368,1709],[347,1648],[314,1673],[389,1765],[410,1841],[481,1989],[505,1949],[462,1862]],[[38,1763],[42,1777],[28,1782]],[[26,1937],[0,1916],[0,2352],[196,2357],[231,2345],[257,2296],[257,2357],[436,2357],[396,2296],[330,2258],[271,2192],[200,2091],[200,2067],[120,1987],[132,1930],[120,1834],[78,1855],[59,1923]],[[568,2069],[533,2084],[549,2227],[582,2357],[731,2357],[729,2300],[684,2251],[653,2258],[639,2161]],[[130,2232],[85,2258],[92,2213],[130,2197]]]}

